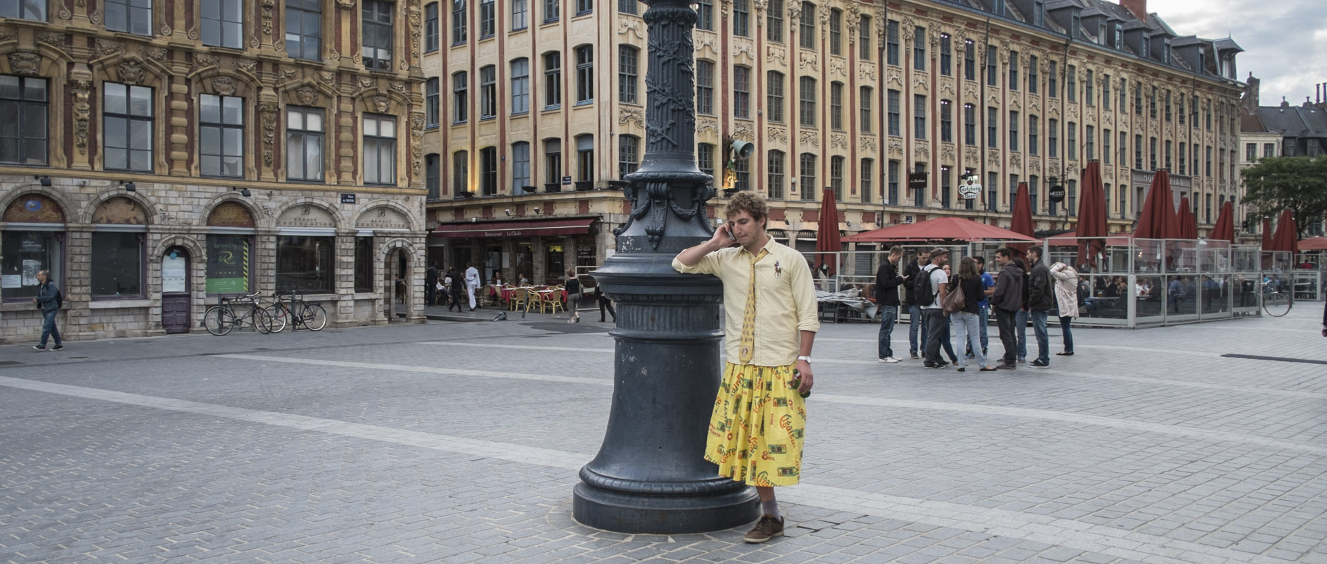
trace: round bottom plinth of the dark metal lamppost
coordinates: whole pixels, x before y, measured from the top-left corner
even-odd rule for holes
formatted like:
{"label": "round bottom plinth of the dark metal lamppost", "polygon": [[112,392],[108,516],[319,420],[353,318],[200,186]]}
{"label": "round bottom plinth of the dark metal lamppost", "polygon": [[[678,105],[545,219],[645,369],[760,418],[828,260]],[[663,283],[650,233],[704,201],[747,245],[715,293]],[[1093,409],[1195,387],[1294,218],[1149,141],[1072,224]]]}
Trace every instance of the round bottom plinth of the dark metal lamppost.
{"label": "round bottom plinth of the dark metal lamppost", "polygon": [[722,531],[760,516],[755,489],[714,495],[622,494],[576,485],[572,516],[588,527],[637,535],[685,535]]}

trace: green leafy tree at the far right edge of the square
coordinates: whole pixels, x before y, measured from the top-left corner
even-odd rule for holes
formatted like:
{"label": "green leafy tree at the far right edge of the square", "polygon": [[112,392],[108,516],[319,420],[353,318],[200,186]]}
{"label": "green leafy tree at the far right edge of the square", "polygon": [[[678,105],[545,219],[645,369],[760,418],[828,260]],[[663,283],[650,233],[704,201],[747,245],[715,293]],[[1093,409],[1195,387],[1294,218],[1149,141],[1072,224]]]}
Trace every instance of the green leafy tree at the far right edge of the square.
{"label": "green leafy tree at the far right edge of the square", "polygon": [[1267,158],[1242,175],[1247,187],[1242,203],[1250,207],[1250,217],[1277,217],[1290,209],[1303,238],[1308,225],[1327,214],[1327,158]]}

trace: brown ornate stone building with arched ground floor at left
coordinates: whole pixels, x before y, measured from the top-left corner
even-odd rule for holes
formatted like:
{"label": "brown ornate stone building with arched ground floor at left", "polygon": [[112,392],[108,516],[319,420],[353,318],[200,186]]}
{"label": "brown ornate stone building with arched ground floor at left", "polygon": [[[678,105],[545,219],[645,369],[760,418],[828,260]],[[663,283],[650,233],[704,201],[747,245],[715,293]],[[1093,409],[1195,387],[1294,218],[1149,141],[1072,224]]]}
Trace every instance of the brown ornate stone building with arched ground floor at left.
{"label": "brown ornate stone building with arched ground floor at left", "polygon": [[422,320],[422,28],[418,0],[4,3],[0,338],[40,332],[38,269],[70,339],[253,291]]}

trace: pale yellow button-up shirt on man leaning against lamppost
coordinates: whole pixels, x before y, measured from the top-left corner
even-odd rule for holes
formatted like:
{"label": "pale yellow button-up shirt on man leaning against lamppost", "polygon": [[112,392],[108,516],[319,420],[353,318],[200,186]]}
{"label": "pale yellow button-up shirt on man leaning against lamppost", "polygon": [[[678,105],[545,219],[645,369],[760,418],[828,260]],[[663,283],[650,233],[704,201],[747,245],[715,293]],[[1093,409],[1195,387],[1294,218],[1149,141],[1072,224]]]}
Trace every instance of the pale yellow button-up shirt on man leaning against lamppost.
{"label": "pale yellow button-up shirt on man leaning against lamppost", "polygon": [[[798,360],[800,331],[820,331],[816,287],[802,253],[772,237],[763,250],[766,254],[755,263],[755,350],[747,364],[786,367]],[[714,274],[723,281],[725,352],[734,364],[740,364],[742,318],[755,258],[736,246],[706,254],[695,266],[673,259],[673,269],[679,273]]]}

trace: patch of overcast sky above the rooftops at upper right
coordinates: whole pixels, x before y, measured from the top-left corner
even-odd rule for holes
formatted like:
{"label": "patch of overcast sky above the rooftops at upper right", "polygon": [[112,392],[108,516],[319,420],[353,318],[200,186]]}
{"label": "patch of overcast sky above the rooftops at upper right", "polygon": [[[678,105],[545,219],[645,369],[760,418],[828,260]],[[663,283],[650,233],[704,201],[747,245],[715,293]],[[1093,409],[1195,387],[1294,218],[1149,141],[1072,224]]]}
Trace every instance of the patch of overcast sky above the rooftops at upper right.
{"label": "patch of overcast sky above the rooftops at upper right", "polygon": [[1239,79],[1251,71],[1262,81],[1261,103],[1281,97],[1292,105],[1314,97],[1327,82],[1327,7],[1323,0],[1148,0],[1181,36],[1230,36],[1245,49],[1237,58]]}

